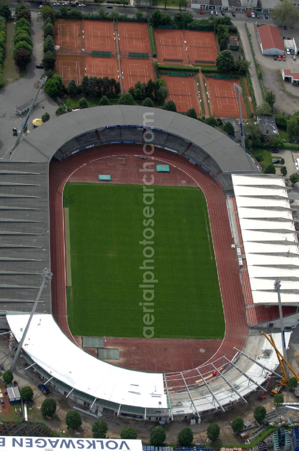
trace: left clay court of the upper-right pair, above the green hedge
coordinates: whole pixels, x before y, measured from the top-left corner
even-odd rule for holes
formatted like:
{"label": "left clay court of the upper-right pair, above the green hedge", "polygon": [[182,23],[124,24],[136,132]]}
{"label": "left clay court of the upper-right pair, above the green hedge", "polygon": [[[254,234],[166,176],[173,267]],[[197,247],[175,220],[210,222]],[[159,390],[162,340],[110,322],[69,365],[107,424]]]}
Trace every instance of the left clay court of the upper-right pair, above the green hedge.
{"label": "left clay court of the upper-right pair, above the green hedge", "polygon": [[157,59],[159,63],[187,64],[183,30],[155,28]]}

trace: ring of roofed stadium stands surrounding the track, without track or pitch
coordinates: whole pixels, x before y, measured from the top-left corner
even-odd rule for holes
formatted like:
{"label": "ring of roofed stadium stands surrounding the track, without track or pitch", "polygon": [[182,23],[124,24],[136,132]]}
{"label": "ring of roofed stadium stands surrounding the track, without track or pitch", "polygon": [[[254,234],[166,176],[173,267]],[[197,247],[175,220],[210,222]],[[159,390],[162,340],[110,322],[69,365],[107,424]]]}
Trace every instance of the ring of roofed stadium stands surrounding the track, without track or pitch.
{"label": "ring of roofed stadium stands surrounding the track, without track or pitch", "polygon": [[[170,111],[117,105],[50,120],[0,161],[0,308],[17,342],[40,287],[40,274],[51,267],[49,162],[55,158],[67,165],[67,158],[77,152],[93,147],[100,152],[101,146],[107,149],[110,144],[140,147],[149,130],[158,152],[166,149],[178,166],[182,162],[210,173],[217,189],[227,194],[232,242],[240,249],[236,259],[241,259],[248,324],[275,327],[277,293],[272,283],[277,277],[286,321],[292,318],[287,325],[297,324],[298,241],[284,179],[261,175],[250,154],[202,122]],[[261,307],[264,316],[259,316]],[[264,390],[269,375],[279,376],[277,355],[259,331],[247,334],[242,348],[224,339],[223,354],[196,368],[146,373],[95,359],[71,341],[53,317],[50,285],[45,286],[36,312],[23,344],[26,371],[38,373],[45,384],[94,413],[106,408],[134,419],[200,421],[237,402],[246,403],[250,392]],[[290,335],[285,333],[286,346]],[[282,351],[281,334],[274,333],[273,338]]]}

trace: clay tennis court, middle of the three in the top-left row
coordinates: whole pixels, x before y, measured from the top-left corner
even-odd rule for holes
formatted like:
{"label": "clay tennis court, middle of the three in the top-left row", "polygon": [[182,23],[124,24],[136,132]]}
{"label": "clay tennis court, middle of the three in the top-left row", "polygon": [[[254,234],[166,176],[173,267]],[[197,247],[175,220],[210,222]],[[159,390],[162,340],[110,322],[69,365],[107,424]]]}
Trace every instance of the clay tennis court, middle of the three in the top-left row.
{"label": "clay tennis court, middle of the three in the top-left row", "polygon": [[91,51],[108,51],[116,54],[114,32],[113,22],[85,20],[84,39],[86,53],[90,54]]}

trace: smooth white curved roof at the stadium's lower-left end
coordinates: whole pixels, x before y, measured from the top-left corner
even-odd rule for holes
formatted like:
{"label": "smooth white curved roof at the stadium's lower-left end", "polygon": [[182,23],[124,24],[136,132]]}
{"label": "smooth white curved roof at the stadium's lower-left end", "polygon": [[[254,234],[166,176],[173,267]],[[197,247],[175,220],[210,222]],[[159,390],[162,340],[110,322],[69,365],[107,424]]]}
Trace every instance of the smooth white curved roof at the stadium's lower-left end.
{"label": "smooth white curved roof at the stadium's lower-left end", "polygon": [[[29,315],[11,314],[6,318],[20,341]],[[52,315],[33,316],[23,350],[51,376],[94,398],[167,409],[162,374],[119,368],[94,358],[64,335]]]}

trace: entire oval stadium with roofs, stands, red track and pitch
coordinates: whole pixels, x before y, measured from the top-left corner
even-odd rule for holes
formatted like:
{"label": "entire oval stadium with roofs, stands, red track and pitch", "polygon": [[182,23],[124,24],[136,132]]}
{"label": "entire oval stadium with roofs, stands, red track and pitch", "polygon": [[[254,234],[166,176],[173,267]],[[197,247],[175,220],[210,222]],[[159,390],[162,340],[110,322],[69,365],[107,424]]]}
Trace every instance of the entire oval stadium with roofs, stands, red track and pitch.
{"label": "entire oval stadium with roofs, stands, red track and pitch", "polygon": [[[9,158],[1,160],[1,165],[1,326],[3,329],[9,327],[16,341],[22,338],[41,285],[43,269],[50,268],[53,273],[51,284],[46,284],[42,291],[37,313],[23,344],[22,356],[28,362],[26,371],[38,373],[44,383],[94,413],[108,409],[118,416],[149,421],[201,421],[205,415],[231,409],[236,402],[247,402],[252,391],[263,390],[262,385],[270,373],[277,375],[277,356],[268,349],[267,340],[254,329],[250,329],[250,334],[248,332],[249,327],[278,326],[277,293],[273,285],[277,277],[282,285],[285,326],[297,325],[299,250],[292,210],[284,179],[262,175],[250,154],[231,138],[202,122],[169,111],[136,106],[96,107],[49,121],[23,138]],[[167,166],[169,172],[158,172],[158,165]],[[109,175],[113,185],[107,189],[120,185],[118,189],[126,193],[126,208],[131,208],[135,201],[138,204],[134,186],[151,189],[152,174],[155,175],[155,183],[152,183],[155,193],[162,193],[163,187],[163,193],[170,193],[168,202],[160,208],[170,215],[171,224],[175,222],[174,198],[178,199],[175,209],[179,217],[186,215],[188,210],[185,199],[197,209],[198,188],[204,195],[206,207],[202,202],[198,209],[201,208],[201,216],[207,211],[210,227],[206,222],[202,245],[211,236],[210,260],[215,261],[217,276],[209,279],[209,274],[214,274],[211,266],[208,276],[201,278],[198,287],[206,299],[214,290],[213,298],[216,299],[219,284],[223,313],[219,313],[217,324],[223,315],[225,333],[219,330],[216,338],[215,331],[208,337],[206,331],[205,334],[204,331],[196,333],[192,329],[191,323],[196,320],[193,299],[193,303],[182,309],[187,311],[187,318],[183,317],[185,312],[179,315],[184,326],[181,331],[173,328],[163,331],[160,327],[157,338],[140,338],[135,332],[132,335],[126,330],[120,336],[98,337],[95,345],[87,340],[89,346],[84,346],[84,339],[88,338],[84,336],[86,328],[80,332],[81,337],[79,333],[75,336],[84,321],[71,324],[70,304],[67,304],[70,299],[70,271],[67,268],[72,259],[71,252],[74,252],[71,250],[68,256],[67,236],[70,234],[73,241],[72,234],[76,229],[71,225],[74,224],[71,216],[69,232],[65,226],[65,208],[70,208],[82,194],[67,194],[64,189],[68,190],[70,184],[73,189],[82,182],[86,185],[94,181],[97,189],[105,190],[107,184],[101,182],[100,175]],[[67,181],[70,184],[66,185]],[[170,187],[173,187],[171,192]],[[119,191],[114,189],[114,194],[102,191],[107,193],[102,197],[116,202]],[[139,192],[143,190],[139,188]],[[181,192],[184,194],[179,200]],[[196,200],[190,200],[192,196]],[[81,236],[88,235],[88,230],[82,229],[77,222],[80,221],[80,208],[81,216],[92,208],[88,206],[86,192],[80,202],[76,223]],[[87,210],[83,209],[83,202],[88,206]],[[109,205],[103,203],[103,199],[101,202],[97,204],[97,212],[103,216]],[[158,202],[156,205],[159,208]],[[131,209],[129,212],[134,213]],[[192,216],[194,218],[190,218],[185,226],[186,239],[181,231],[168,228],[171,237],[181,237],[190,249],[200,239],[200,235],[196,235],[200,231],[199,226],[196,228],[196,211]],[[97,223],[97,226],[100,225]],[[107,227],[110,226],[108,223]],[[187,228],[192,232],[191,237]],[[98,235],[102,236],[103,230],[99,229]],[[103,246],[104,239],[99,243]],[[88,245],[85,242],[84,246]],[[98,247],[92,245],[90,249],[89,252],[94,249],[98,254]],[[192,271],[196,256],[190,249],[188,257],[193,260],[190,260],[188,272],[182,268],[184,278],[189,272],[195,277]],[[86,258],[80,252],[78,255],[82,260]],[[170,258],[174,257],[170,255]],[[93,269],[89,260],[87,262],[88,271],[83,278],[87,278]],[[169,261],[162,263],[165,267]],[[71,263],[72,279],[74,276],[78,279],[84,266],[86,260],[83,267],[73,270]],[[100,271],[93,273],[93,277],[100,279],[101,272],[103,279],[109,277],[105,272],[107,267],[106,257],[105,265],[98,267]],[[174,276],[179,277],[179,274],[175,272]],[[86,280],[85,290],[89,289],[90,280]],[[205,280],[205,286],[202,280]],[[110,285],[119,283],[117,280],[112,283],[111,278]],[[108,299],[107,288],[103,292],[106,293],[107,309],[99,306],[104,317],[99,331],[111,322],[113,311],[117,316],[116,304],[113,299]],[[110,303],[114,310],[109,310]],[[86,296],[80,298],[79,304],[84,307],[83,313],[89,310]],[[220,310],[218,306],[218,312]],[[216,315],[211,311],[213,315],[216,321]],[[125,318],[118,318],[116,331],[121,319]],[[187,320],[190,336],[185,330]],[[92,318],[86,320],[87,326],[89,322]],[[280,334],[273,334],[273,337],[278,349],[282,350]],[[290,332],[286,332],[285,337],[287,345]],[[154,347],[154,361],[152,357],[140,358],[147,354],[149,347]],[[98,350],[98,354],[93,356],[90,352],[94,350]],[[109,358],[110,354],[114,357]],[[186,356],[186,360],[182,356]],[[108,363],[109,360],[113,364]]]}

